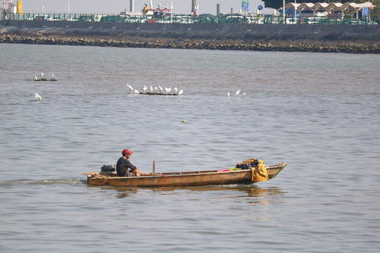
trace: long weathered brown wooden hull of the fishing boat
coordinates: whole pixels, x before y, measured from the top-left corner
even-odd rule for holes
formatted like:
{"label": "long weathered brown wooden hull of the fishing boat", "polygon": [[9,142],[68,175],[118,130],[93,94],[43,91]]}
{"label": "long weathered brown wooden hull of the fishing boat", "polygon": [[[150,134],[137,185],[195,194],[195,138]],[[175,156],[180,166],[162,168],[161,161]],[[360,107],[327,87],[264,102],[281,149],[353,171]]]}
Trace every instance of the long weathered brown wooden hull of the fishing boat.
{"label": "long weathered brown wooden hull of the fishing boat", "polygon": [[[273,179],[284,169],[286,163],[266,166],[268,179]],[[120,177],[110,172],[85,172],[91,186],[165,187],[207,186],[222,184],[247,184],[253,181],[253,169],[224,169],[215,171],[185,171],[167,173],[142,173],[141,176]]]}

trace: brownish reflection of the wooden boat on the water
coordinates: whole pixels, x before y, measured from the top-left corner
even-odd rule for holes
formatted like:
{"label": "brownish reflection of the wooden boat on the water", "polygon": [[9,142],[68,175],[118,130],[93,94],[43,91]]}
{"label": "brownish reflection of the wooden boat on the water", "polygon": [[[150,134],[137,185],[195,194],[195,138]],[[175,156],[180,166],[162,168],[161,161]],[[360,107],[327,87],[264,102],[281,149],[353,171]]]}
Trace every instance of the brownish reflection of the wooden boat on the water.
{"label": "brownish reflection of the wooden boat on the water", "polygon": [[[88,186],[94,187],[94,186]],[[95,186],[96,187],[96,186]],[[98,186],[99,187],[99,186]],[[220,191],[220,195],[213,198],[236,198],[236,197],[253,197],[252,203],[262,203],[267,202],[265,197],[272,195],[285,195],[286,192],[281,190],[281,188],[270,187],[270,188],[260,188],[255,185],[222,185],[222,186],[187,186],[187,187],[165,187],[165,188],[134,188],[134,187],[101,187],[104,190],[115,190],[117,192],[118,198],[129,197],[139,193],[140,190],[151,190],[155,193],[160,193],[161,195],[171,195],[171,194],[182,194],[183,190],[191,192],[210,192],[210,191]],[[237,191],[243,193],[241,195],[222,195],[222,191]]]}

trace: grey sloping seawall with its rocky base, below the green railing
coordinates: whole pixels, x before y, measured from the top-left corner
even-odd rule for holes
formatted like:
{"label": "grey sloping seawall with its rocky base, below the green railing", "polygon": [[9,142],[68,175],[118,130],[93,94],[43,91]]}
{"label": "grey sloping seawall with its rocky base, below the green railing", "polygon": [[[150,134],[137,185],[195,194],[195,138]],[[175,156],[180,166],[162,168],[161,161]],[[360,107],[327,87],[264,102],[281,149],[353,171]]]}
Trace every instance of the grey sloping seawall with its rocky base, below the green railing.
{"label": "grey sloping seawall with its rocky base, below the green railing", "polygon": [[380,25],[8,20],[1,43],[380,53]]}

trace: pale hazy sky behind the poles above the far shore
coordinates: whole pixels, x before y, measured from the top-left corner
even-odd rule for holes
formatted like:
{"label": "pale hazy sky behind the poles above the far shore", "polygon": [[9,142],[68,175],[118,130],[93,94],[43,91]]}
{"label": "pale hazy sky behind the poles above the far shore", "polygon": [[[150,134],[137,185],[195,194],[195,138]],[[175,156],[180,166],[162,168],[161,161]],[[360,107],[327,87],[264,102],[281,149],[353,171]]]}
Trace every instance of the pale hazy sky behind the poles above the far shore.
{"label": "pale hazy sky behind the poles above the far shore", "polygon": [[[16,0],[13,0],[16,4]],[[172,0],[174,13],[191,13],[191,0]],[[216,6],[220,4],[221,13],[229,13],[231,8],[235,13],[241,9],[241,0],[198,0],[198,13],[216,13]],[[248,0],[249,12],[256,13],[259,5],[264,7],[261,0]],[[134,11],[141,11],[148,0],[134,0]],[[127,7],[129,11],[129,0],[23,0],[23,12],[42,12],[44,4],[45,13],[68,13],[68,4],[70,4],[70,13],[99,13],[99,14],[119,14]],[[153,0],[153,7],[157,8],[158,4],[170,8],[170,0]],[[272,9],[264,8],[263,14],[272,13]]]}

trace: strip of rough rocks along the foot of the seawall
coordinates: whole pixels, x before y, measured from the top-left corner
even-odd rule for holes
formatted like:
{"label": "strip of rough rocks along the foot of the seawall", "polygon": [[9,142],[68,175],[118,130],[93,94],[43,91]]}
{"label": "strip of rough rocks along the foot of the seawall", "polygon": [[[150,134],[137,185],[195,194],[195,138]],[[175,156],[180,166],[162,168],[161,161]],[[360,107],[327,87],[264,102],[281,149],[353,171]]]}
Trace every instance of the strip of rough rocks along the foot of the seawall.
{"label": "strip of rough rocks along the foot of the seawall", "polygon": [[380,41],[315,39],[188,39],[138,36],[85,36],[66,34],[16,34],[0,32],[0,43],[130,48],[184,48],[238,51],[320,53],[380,53]]}

